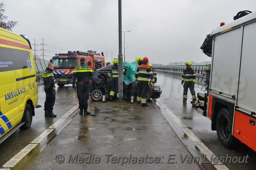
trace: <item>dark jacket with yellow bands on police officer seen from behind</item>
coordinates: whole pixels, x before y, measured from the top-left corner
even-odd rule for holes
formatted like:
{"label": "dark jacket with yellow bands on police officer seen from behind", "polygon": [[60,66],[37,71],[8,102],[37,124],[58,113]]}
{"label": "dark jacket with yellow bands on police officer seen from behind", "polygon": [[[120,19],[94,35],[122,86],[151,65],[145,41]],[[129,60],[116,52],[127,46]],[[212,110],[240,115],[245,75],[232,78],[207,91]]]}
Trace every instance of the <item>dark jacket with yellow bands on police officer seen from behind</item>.
{"label": "dark jacket with yellow bands on police officer seen from behind", "polygon": [[90,79],[91,81],[94,81],[93,71],[91,70],[91,67],[87,66],[85,63],[81,63],[80,66],[76,66],[72,78],[73,85],[75,85],[76,78],[77,85],[89,83]]}

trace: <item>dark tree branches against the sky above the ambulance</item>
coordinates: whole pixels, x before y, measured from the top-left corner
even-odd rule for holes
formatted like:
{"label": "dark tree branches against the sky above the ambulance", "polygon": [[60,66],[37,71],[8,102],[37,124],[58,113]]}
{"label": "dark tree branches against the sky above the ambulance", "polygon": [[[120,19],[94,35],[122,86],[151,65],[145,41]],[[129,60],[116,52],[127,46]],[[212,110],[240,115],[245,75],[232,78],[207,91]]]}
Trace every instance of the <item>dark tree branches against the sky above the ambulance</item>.
{"label": "dark tree branches against the sky above the ambulance", "polygon": [[5,13],[5,4],[2,2],[0,4],[0,27],[6,30],[12,31],[16,25],[18,25],[18,21],[7,21],[8,16],[4,15]]}

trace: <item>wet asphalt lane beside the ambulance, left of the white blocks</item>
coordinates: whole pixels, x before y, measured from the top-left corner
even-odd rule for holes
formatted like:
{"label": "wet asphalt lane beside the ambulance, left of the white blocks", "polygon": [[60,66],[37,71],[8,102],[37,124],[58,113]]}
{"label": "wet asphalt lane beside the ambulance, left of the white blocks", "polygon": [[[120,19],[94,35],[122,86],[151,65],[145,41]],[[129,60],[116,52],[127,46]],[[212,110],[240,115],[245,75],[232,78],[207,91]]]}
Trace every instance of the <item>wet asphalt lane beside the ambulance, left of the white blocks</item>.
{"label": "wet asphalt lane beside the ambulance, left of the white blocks", "polygon": [[[57,86],[57,85],[56,85]],[[9,161],[14,155],[20,152],[25,146],[37,138],[47,128],[49,128],[54,122],[56,122],[61,116],[72,109],[77,103],[76,91],[72,89],[72,86],[64,86],[59,88],[57,86],[56,102],[53,107],[53,112],[57,115],[56,118],[44,117],[44,101],[45,93],[43,85],[38,85],[38,104],[42,105],[40,108],[36,108],[35,116],[32,118],[32,125],[27,130],[17,130],[8,139],[0,144],[0,167]]]}

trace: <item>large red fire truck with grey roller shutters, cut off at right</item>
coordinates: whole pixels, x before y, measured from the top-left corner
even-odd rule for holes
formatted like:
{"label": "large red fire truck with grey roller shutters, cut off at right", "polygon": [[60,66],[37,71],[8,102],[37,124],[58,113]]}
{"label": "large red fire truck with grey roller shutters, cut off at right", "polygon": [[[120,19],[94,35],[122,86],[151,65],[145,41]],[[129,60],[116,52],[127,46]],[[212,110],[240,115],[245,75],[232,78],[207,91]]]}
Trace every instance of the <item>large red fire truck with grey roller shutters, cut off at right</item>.
{"label": "large red fire truck with grey roller shutters, cut off at right", "polygon": [[255,47],[256,12],[216,28],[201,46],[212,62],[206,67],[205,92],[197,94],[198,112],[212,121],[227,148],[241,141],[256,151]]}

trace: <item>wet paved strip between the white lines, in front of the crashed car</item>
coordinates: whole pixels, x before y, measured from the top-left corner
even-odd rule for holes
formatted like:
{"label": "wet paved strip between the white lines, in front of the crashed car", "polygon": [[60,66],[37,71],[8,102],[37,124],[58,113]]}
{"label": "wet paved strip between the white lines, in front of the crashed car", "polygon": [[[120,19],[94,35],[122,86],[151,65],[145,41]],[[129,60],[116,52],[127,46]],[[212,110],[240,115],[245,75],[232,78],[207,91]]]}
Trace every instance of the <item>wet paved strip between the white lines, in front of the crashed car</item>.
{"label": "wet paved strip between the white lines, in front of the crashed car", "polygon": [[90,101],[99,113],[82,116],[77,109],[27,169],[200,169],[187,161],[192,155],[149,104]]}

